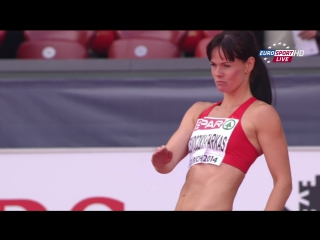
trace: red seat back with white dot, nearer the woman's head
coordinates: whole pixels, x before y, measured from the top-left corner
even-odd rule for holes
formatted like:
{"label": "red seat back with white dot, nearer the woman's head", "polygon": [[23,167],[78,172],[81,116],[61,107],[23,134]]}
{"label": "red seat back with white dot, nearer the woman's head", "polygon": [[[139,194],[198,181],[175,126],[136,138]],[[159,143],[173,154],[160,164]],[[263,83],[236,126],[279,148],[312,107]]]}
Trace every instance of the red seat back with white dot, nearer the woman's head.
{"label": "red seat back with white dot, nearer the woman's head", "polygon": [[109,48],[108,58],[178,58],[178,46],[169,41],[152,39],[117,39]]}

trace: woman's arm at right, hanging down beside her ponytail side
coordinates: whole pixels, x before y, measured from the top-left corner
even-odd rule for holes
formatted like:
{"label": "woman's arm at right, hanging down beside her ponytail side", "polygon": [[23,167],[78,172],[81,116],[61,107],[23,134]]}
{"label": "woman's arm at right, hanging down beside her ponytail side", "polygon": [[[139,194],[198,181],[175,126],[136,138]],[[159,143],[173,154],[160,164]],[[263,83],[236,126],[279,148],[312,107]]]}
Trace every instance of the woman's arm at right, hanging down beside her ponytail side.
{"label": "woman's arm at right, hanging down beside her ponytail side", "polygon": [[258,141],[274,184],[265,210],[282,211],[292,190],[288,146],[282,123],[276,110],[267,104],[258,106],[254,117]]}

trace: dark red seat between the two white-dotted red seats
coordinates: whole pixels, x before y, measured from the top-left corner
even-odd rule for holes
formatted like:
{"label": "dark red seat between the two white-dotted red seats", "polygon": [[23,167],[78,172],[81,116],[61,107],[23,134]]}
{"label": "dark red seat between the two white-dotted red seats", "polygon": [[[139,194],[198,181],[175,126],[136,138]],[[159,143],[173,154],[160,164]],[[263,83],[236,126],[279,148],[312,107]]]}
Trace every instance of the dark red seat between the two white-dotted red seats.
{"label": "dark red seat between the two white-dotted red seats", "polygon": [[116,39],[113,30],[97,30],[93,36],[90,48],[97,54],[107,54],[111,43]]}

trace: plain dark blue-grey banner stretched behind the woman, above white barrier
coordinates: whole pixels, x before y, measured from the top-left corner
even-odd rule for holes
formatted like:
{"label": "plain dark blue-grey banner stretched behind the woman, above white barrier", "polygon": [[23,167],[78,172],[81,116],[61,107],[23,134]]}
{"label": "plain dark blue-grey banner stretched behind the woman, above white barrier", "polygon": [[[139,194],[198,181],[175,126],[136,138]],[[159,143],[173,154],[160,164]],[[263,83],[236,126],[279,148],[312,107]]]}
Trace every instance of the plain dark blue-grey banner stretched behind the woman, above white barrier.
{"label": "plain dark blue-grey banner stretched behind the woman, above white barrier", "polygon": [[[318,58],[312,59],[305,58],[301,72],[299,67],[292,74],[273,69],[273,106],[289,146],[320,146],[320,74]],[[313,66],[312,74],[307,63]],[[209,75],[0,79],[0,149],[161,146],[195,102],[222,100]],[[213,124],[204,123],[200,127],[205,129]]]}

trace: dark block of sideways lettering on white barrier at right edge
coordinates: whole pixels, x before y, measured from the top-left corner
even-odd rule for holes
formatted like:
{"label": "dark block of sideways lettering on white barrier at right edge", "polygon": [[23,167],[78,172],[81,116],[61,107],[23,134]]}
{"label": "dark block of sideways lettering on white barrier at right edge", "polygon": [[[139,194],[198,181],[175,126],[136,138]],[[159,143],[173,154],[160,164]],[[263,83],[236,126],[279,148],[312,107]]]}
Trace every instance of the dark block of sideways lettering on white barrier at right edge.
{"label": "dark block of sideways lettering on white barrier at right edge", "polygon": [[[316,176],[316,182],[312,186],[310,181],[299,181],[299,211],[320,211],[320,175]],[[285,211],[290,211],[287,207]]]}

